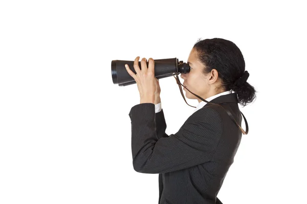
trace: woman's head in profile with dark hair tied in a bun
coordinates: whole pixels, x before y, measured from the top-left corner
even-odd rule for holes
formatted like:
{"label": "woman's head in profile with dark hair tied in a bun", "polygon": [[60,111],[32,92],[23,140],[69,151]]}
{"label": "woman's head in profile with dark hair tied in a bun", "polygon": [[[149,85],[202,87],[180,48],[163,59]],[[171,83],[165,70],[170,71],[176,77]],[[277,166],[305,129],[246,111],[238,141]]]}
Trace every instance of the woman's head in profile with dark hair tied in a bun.
{"label": "woman's head in profile with dark hair tied in a bun", "polygon": [[[245,106],[255,98],[255,89],[246,82],[245,61],[240,49],[231,41],[213,38],[199,40],[193,46],[188,63],[190,72],[181,74],[184,86],[202,98],[232,90]],[[186,89],[184,89],[186,90]],[[201,99],[186,90],[186,97]]]}

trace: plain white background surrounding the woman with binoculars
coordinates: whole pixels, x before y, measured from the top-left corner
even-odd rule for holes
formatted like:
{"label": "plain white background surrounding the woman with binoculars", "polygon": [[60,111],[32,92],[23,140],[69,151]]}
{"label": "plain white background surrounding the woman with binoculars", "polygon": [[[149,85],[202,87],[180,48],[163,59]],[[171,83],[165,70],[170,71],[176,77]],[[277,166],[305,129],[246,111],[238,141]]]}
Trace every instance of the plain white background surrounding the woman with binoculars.
{"label": "plain white background surrounding the woman with binoculars", "polygon": [[[1,1],[0,203],[158,203],[158,174],[132,165],[139,92],[113,84],[111,61],[186,62],[215,37],[242,50],[257,91],[217,197],[307,203],[302,2]],[[173,77],[160,85],[173,134],[194,108]]]}

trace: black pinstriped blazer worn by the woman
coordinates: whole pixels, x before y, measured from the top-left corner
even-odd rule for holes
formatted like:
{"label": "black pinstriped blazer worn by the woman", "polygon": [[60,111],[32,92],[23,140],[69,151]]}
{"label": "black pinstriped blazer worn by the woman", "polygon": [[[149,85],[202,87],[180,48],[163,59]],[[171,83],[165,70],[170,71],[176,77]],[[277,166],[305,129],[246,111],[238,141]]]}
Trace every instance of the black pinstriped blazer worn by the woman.
{"label": "black pinstriped blazer worn by the woman", "polygon": [[[241,124],[236,93],[210,102],[225,103]],[[134,169],[159,173],[159,204],[222,203],[216,196],[242,137],[223,108],[206,104],[171,135],[165,133],[163,110],[155,113],[154,104],[132,107],[129,117]]]}

